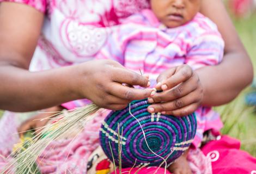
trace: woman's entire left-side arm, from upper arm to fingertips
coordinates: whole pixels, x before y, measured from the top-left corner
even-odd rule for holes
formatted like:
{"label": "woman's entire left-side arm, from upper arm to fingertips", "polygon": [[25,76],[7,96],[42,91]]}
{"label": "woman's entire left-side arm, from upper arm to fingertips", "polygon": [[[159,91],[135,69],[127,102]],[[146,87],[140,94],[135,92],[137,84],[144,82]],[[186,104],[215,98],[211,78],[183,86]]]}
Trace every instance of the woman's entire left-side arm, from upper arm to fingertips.
{"label": "woman's entire left-side arm, from upper arm to fingertips", "polygon": [[[110,61],[90,61],[59,69],[29,72],[44,14],[27,5],[0,5],[0,108],[29,111],[88,98],[108,109],[121,109],[132,100],[149,97],[148,79]],[[104,98],[104,100],[102,100]]]}

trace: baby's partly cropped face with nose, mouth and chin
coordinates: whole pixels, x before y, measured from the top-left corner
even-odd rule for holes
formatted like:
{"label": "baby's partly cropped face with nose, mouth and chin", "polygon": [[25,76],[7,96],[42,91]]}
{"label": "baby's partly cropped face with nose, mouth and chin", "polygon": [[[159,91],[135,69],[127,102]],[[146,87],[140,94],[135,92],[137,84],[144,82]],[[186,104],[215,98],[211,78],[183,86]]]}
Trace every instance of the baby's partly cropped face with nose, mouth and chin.
{"label": "baby's partly cropped face with nose, mouth and chin", "polygon": [[156,17],[169,28],[178,27],[192,18],[200,9],[201,0],[150,0]]}

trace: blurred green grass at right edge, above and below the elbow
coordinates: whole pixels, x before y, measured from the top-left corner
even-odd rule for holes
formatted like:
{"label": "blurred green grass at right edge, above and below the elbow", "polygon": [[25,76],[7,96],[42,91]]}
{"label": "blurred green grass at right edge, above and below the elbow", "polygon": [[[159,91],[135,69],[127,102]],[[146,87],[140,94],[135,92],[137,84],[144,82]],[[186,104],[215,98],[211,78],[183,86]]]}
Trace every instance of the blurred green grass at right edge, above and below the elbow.
{"label": "blurred green grass at right edge, above and below the elbow", "polygon": [[[256,14],[242,18],[233,19],[234,25],[240,38],[245,45],[256,67]],[[238,70],[237,70],[238,71]],[[245,95],[252,89],[248,87],[231,103],[215,109],[221,114],[224,122],[223,134],[229,134],[239,138],[242,142],[242,149],[256,157],[256,114],[254,107],[245,104]],[[0,117],[3,111],[0,110]]]}

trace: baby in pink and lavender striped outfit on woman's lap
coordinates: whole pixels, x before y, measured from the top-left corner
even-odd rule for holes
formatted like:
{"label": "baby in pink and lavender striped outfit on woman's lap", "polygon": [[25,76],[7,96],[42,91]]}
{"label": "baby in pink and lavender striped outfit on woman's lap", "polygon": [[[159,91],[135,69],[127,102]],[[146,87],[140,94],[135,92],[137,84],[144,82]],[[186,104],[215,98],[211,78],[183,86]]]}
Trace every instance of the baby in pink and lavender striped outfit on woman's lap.
{"label": "baby in pink and lavender striped outfit on woman's lap", "polygon": [[[151,87],[159,74],[177,66],[187,64],[196,70],[220,63],[224,42],[215,24],[198,13],[200,0],[151,0],[150,4],[152,10],[143,10],[109,28],[105,45],[95,57],[114,59],[127,69],[149,74]],[[211,108],[199,107],[196,115],[193,146],[199,147],[203,132],[220,129],[222,123]],[[187,153],[170,165],[171,172],[191,172]]]}

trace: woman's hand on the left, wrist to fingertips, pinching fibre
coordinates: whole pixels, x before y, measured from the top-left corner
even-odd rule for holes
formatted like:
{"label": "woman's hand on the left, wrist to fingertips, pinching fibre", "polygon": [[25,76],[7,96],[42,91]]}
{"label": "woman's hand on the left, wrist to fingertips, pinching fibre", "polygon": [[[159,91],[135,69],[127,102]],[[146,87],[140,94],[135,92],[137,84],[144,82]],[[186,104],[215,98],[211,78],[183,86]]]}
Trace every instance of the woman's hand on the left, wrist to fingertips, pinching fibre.
{"label": "woman's hand on the left, wrist to fingertips, pinching fibre", "polygon": [[75,78],[74,84],[78,95],[80,98],[88,98],[99,107],[119,110],[133,100],[141,100],[155,94],[154,89],[135,89],[124,85],[147,88],[150,83],[148,76],[127,70],[116,61],[93,60],[77,67],[75,70],[78,78]]}

